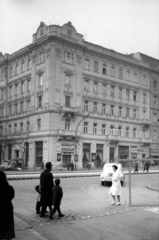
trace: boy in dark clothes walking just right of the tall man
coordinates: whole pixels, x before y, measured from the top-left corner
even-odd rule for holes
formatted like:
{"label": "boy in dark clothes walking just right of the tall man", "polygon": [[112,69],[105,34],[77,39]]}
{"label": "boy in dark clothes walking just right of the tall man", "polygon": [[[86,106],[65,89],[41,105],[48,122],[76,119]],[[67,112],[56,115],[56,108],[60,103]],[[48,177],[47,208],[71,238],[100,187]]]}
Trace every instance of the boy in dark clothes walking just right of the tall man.
{"label": "boy in dark clothes walking just right of the tall man", "polygon": [[61,210],[60,210],[63,191],[62,191],[62,188],[60,187],[59,178],[55,180],[55,186],[51,189],[51,195],[52,195],[52,204],[54,205],[54,208],[51,211],[49,218],[52,219],[53,218],[52,216],[56,211],[58,211],[59,217],[64,217],[64,215],[61,213]]}

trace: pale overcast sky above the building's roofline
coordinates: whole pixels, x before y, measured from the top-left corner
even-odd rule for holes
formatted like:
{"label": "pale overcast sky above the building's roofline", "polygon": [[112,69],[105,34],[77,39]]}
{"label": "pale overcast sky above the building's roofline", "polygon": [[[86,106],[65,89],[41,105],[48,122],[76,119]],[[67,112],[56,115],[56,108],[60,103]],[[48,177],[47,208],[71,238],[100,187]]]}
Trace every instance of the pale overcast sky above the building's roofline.
{"label": "pale overcast sky above the building's roofline", "polygon": [[0,52],[32,43],[40,22],[68,21],[88,42],[159,59],[159,0],[0,0]]}

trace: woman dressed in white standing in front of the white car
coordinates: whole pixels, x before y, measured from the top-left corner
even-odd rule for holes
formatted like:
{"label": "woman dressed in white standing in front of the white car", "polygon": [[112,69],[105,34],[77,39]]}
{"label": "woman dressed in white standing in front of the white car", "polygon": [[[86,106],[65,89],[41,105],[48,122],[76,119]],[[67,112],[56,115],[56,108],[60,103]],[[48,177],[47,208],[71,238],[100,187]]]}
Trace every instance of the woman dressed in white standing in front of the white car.
{"label": "woman dressed in white standing in front of the white car", "polygon": [[[121,164],[113,165],[113,176],[112,176],[112,186],[110,188],[109,193],[112,195],[113,202],[112,205],[120,205],[120,195],[121,195],[121,183],[120,183],[120,175],[121,175]],[[117,199],[116,199],[117,198]]]}

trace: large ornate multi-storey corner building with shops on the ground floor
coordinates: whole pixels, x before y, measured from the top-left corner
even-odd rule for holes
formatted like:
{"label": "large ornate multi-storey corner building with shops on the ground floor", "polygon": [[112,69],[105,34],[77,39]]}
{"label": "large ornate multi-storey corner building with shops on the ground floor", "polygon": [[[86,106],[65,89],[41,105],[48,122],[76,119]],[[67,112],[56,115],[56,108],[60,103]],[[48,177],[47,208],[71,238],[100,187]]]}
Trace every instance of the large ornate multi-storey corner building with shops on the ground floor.
{"label": "large ornate multi-storey corner building with shops on the ground floor", "polygon": [[[85,41],[71,22],[41,22],[30,45],[1,54],[0,74],[0,137],[31,129],[26,167],[150,155],[149,63]],[[21,151],[8,144],[5,154]]]}

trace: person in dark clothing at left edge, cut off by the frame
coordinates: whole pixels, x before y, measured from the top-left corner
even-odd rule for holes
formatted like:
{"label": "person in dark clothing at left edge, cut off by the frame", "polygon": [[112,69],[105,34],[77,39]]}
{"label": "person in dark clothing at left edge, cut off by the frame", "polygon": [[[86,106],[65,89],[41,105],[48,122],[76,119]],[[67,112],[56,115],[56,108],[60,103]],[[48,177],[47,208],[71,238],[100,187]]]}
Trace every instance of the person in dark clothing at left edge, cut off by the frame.
{"label": "person in dark clothing at left edge, cut off by the frame", "polygon": [[14,188],[6,180],[6,175],[0,171],[0,239],[15,238],[12,199]]}

